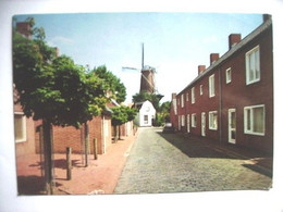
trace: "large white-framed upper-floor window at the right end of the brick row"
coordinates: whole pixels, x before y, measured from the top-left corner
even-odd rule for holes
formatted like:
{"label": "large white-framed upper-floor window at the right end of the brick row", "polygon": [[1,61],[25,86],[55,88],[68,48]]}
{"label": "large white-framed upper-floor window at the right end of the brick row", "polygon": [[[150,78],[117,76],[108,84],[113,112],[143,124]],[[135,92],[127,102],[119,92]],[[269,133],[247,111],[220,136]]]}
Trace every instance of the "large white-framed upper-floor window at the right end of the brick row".
{"label": "large white-framed upper-floor window at the right end of the brick row", "polygon": [[246,84],[260,80],[259,46],[246,53]]}

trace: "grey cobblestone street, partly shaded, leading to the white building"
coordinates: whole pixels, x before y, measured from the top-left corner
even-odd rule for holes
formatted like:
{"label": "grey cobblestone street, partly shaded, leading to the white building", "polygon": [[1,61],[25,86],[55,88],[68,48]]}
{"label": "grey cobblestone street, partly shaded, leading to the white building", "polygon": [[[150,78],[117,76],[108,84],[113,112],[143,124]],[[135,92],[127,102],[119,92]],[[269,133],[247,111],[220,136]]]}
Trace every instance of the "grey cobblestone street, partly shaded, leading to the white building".
{"label": "grey cobblestone street, partly shaded, leading to the white building", "polygon": [[114,194],[269,189],[246,159],[161,128],[140,128]]}

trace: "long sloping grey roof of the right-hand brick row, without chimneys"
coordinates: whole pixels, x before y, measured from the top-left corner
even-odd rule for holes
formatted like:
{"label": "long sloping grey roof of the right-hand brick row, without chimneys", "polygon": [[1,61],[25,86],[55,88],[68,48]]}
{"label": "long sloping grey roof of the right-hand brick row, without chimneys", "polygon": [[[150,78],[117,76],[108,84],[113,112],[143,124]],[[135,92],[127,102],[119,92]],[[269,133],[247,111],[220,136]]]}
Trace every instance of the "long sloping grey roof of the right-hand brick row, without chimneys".
{"label": "long sloping grey roof of the right-hand brick row, without chimneys", "polygon": [[199,74],[190,84],[188,84],[181,92],[189,88],[192,85],[194,85],[198,79],[202,78],[207,74],[209,74],[211,71],[213,71],[217,66],[219,66],[222,62],[227,60],[230,57],[232,57],[235,52],[239,51],[242,48],[244,48],[249,41],[254,40],[257,36],[259,36],[261,33],[266,32],[269,27],[272,25],[272,20],[268,18],[266,22],[263,22],[259,27],[257,27],[254,32],[251,32],[249,35],[247,35],[245,38],[243,38],[237,45],[232,47],[226,53],[224,53],[220,59],[218,59],[212,65],[210,65],[205,72]]}

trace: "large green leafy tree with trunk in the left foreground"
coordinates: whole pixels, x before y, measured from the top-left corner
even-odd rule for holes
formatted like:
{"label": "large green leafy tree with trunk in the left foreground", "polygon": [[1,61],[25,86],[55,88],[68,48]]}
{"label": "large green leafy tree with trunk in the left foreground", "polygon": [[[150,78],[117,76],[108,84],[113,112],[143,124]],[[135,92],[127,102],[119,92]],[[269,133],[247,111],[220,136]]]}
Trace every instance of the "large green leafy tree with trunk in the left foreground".
{"label": "large green leafy tree with trunk in the left foreground", "polygon": [[[27,20],[34,27],[34,20]],[[34,40],[13,30],[13,79],[17,102],[27,117],[42,120],[45,175],[48,194],[52,194],[51,126],[74,126],[100,114],[107,102],[104,83],[45,41],[44,29],[32,28]],[[16,102],[15,102],[16,103]]]}

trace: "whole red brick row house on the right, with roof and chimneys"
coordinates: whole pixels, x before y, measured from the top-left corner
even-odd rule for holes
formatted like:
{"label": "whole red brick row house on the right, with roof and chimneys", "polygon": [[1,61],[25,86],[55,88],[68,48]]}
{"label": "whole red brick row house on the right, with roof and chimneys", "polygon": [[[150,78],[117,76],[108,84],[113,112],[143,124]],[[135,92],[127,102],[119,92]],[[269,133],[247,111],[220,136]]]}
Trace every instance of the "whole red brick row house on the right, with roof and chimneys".
{"label": "whole red brick row house on the right, with roof and chimneys", "polygon": [[210,66],[172,95],[171,122],[177,132],[221,144],[273,152],[272,21],[244,39],[229,36],[229,51],[210,54]]}

